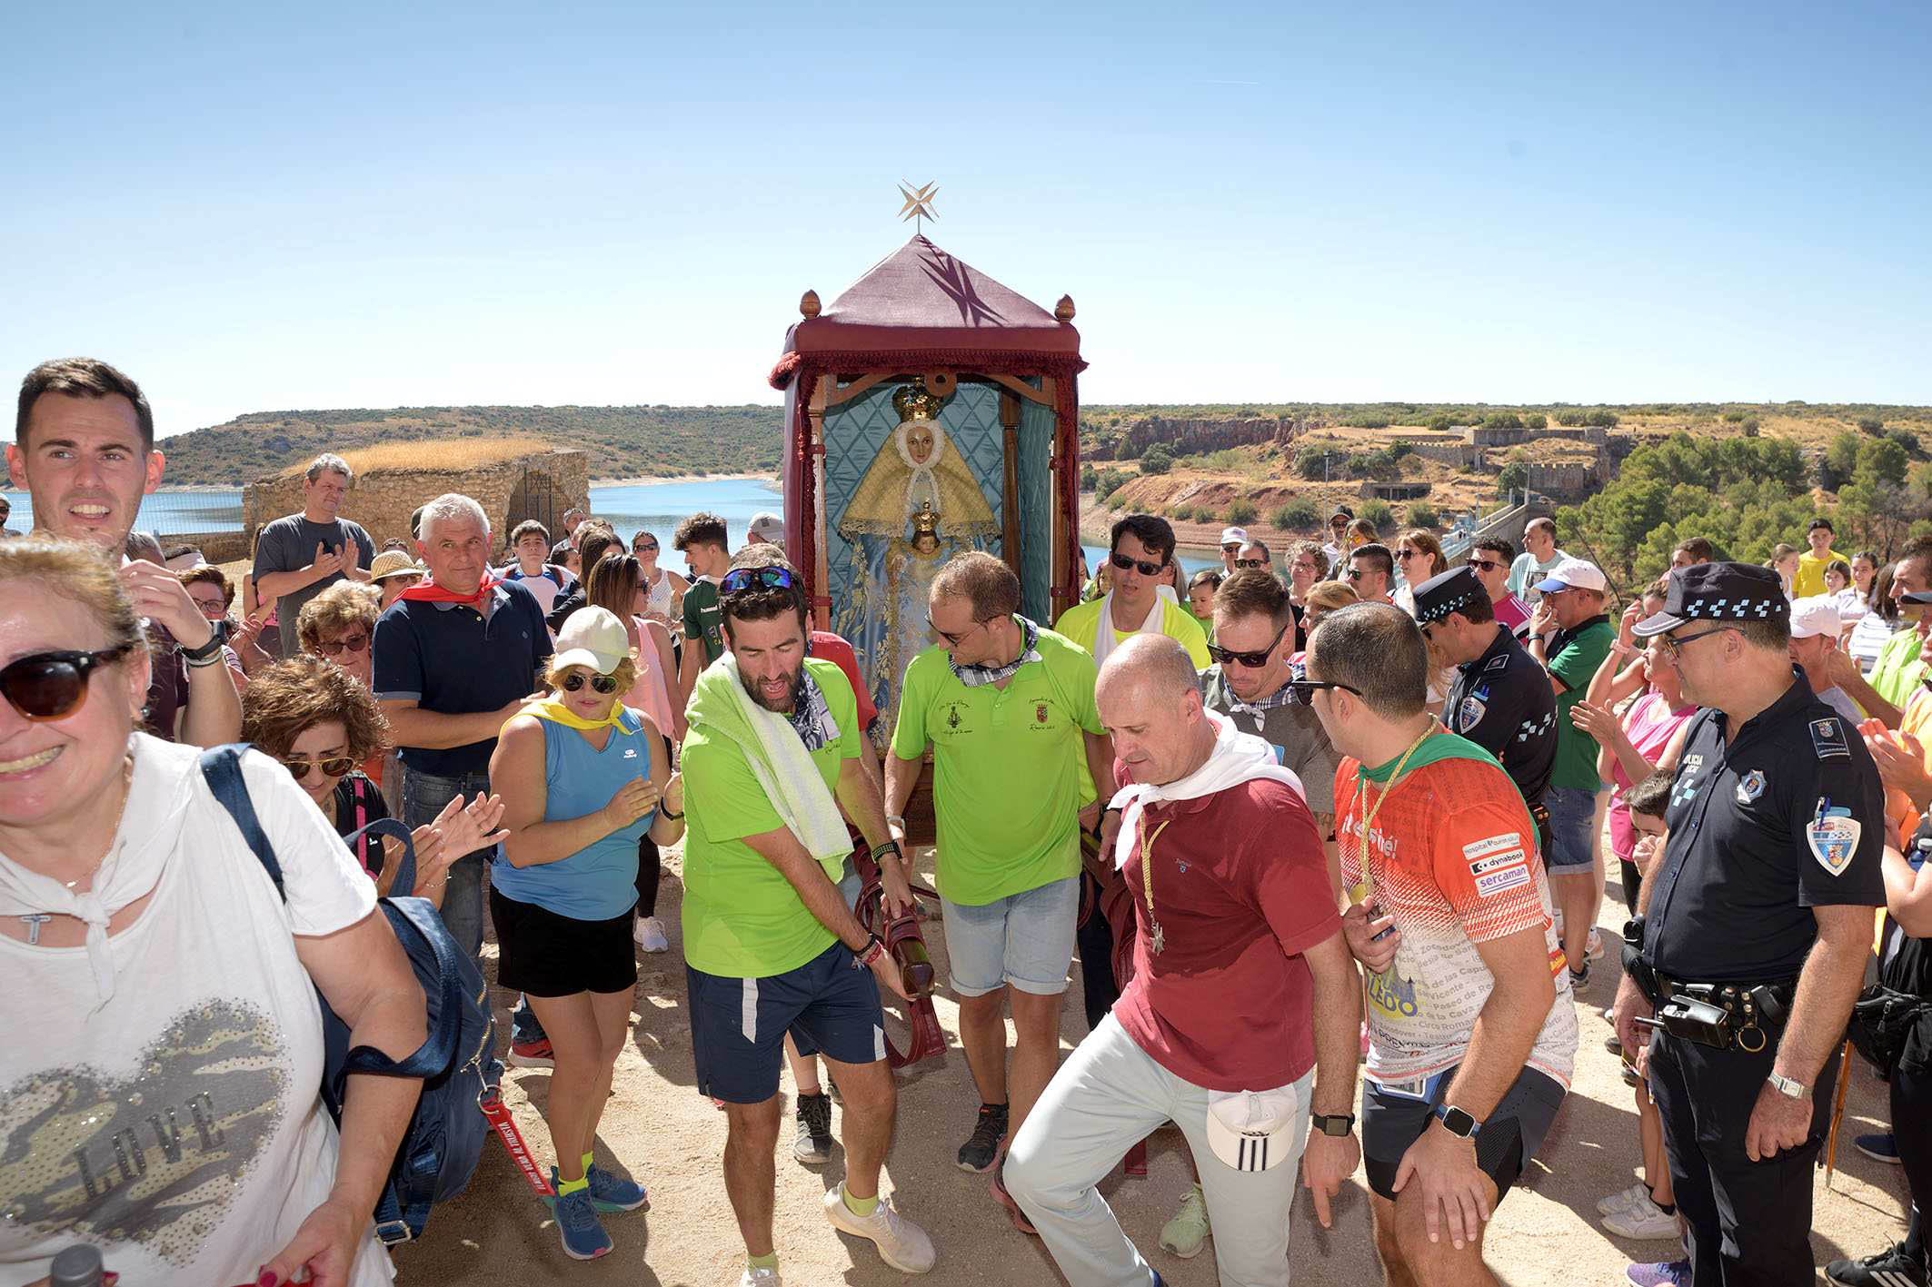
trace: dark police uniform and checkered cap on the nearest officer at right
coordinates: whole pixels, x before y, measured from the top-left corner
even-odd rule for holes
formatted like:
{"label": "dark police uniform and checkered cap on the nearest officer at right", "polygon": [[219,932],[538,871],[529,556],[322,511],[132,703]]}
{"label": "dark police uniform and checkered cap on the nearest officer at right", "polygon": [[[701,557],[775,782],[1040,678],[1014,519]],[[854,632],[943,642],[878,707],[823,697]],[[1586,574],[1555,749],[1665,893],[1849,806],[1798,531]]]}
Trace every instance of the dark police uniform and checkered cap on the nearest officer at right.
{"label": "dark police uniform and checkered cap on the nearest officer at right", "polygon": [[[1776,573],[1700,563],[1671,573],[1640,637],[1681,625],[1764,621],[1787,602]],[[1625,965],[1658,1007],[1650,1090],[1663,1119],[1677,1210],[1700,1287],[1814,1281],[1812,1162],[1832,1113],[1837,1055],[1814,1086],[1806,1140],[1745,1156],[1750,1113],[1777,1055],[1799,971],[1818,938],[1812,907],[1886,901],[1884,799],[1857,729],[1801,675],[1725,741],[1698,712],[1677,762],[1648,913],[1625,928]]]}

